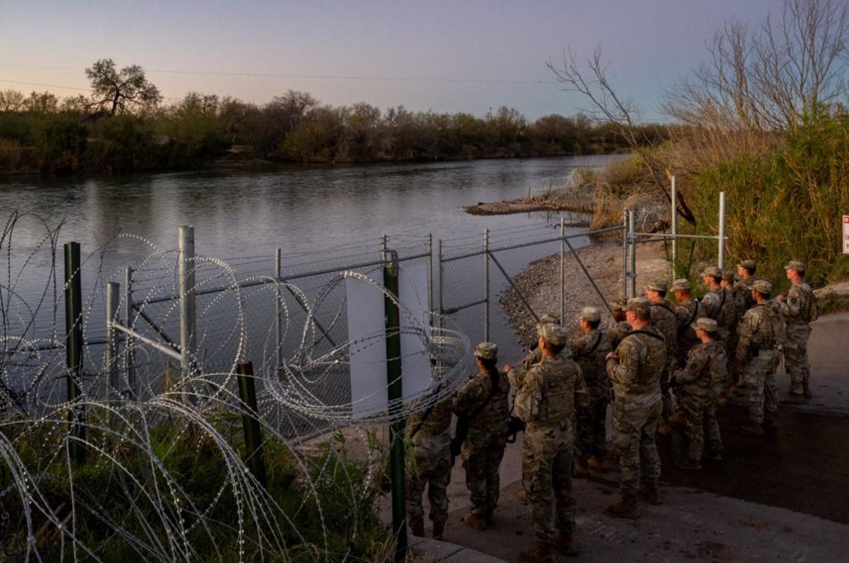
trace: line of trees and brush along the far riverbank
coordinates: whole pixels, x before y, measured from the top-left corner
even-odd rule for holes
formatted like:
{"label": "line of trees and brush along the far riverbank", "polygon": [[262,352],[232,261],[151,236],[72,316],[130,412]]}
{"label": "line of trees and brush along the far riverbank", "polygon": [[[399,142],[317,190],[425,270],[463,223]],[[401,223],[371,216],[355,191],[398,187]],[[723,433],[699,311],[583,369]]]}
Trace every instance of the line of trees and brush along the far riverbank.
{"label": "line of trees and brush along the far riverbank", "polygon": [[[211,162],[380,162],[604,154],[625,150],[616,127],[588,115],[535,121],[502,107],[469,113],[333,106],[288,91],[267,104],[190,92],[163,104],[138,65],[86,70],[92,95],[0,92],[0,172],[123,172]],[[659,142],[666,127],[633,126]]]}

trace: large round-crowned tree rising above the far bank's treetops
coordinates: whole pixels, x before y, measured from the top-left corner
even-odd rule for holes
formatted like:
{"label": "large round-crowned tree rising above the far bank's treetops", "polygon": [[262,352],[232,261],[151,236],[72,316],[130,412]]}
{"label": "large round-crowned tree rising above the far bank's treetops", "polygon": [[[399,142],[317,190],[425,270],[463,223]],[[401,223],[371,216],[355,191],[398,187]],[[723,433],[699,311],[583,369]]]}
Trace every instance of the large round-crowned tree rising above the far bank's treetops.
{"label": "large round-crowned tree rising above the far bank's treetops", "polygon": [[92,83],[90,106],[108,111],[109,115],[159,104],[162,100],[159,89],[148,82],[139,65],[125,66],[118,71],[112,59],[99,59],[86,69],[86,76]]}

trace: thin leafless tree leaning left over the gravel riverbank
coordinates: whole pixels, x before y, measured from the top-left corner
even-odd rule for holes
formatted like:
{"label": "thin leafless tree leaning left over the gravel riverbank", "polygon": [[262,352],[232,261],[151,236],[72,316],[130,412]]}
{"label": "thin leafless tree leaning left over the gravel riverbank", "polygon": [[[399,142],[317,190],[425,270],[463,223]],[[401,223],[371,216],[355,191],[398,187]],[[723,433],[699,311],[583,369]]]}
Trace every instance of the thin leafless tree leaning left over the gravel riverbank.
{"label": "thin leafless tree leaning left over the gravel riverbank", "polygon": [[[564,53],[562,65],[554,65],[551,60],[548,60],[546,65],[554,72],[554,76],[557,76],[558,82],[564,85],[565,91],[582,93],[589,100],[591,108],[588,113],[594,119],[612,126],[617,134],[626,139],[629,147],[643,157],[653,183],[671,204],[672,196],[664,184],[666,176],[663,170],[656,166],[646,149],[646,146],[651,144],[651,139],[646,136],[644,129],[634,127],[636,124],[633,115],[638,111],[637,104],[633,99],[621,97],[610,84],[607,78],[608,65],[602,57],[601,47],[597,46],[593,50],[593,56],[587,61],[589,72],[579,67],[571,50]],[[695,224],[693,211],[689,209],[687,200],[680,193],[678,205],[678,213],[681,217]]]}

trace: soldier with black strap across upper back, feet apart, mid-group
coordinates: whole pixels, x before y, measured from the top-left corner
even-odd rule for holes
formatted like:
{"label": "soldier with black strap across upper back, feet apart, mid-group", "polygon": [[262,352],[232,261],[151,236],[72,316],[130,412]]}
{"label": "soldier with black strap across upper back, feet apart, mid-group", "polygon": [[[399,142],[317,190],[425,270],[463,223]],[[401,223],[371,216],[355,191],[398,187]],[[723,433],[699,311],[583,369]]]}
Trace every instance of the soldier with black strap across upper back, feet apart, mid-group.
{"label": "soldier with black strap across upper back, feet apart, mid-group", "polygon": [[607,374],[613,383],[613,444],[619,451],[621,499],[607,507],[607,514],[638,518],[637,493],[651,504],[660,504],[657,480],[661,458],[655,431],[661,418],[661,374],[666,367],[663,335],[653,329],[651,304],[644,298],[629,299],[626,318],[632,331],[607,359]]}

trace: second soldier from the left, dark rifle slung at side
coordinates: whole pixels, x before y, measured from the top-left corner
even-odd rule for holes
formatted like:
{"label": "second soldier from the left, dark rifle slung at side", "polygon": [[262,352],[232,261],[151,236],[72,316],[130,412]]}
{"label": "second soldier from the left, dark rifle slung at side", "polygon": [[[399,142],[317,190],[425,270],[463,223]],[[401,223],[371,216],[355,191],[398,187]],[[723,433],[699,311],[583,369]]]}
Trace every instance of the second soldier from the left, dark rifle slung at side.
{"label": "second soldier from the left, dark rifle slung at side", "polygon": [[[454,397],[454,414],[468,425],[461,450],[466,487],[472,508],[464,522],[478,530],[493,526],[498,505],[498,466],[507,439],[510,390],[507,375],[498,371],[498,346],[481,342],[475,349],[478,373],[472,375]],[[459,431],[458,431],[459,434]]]}

